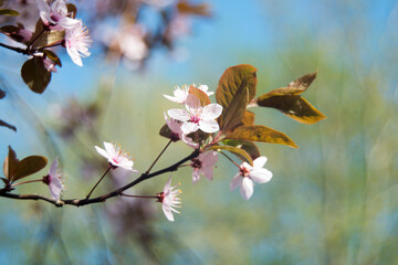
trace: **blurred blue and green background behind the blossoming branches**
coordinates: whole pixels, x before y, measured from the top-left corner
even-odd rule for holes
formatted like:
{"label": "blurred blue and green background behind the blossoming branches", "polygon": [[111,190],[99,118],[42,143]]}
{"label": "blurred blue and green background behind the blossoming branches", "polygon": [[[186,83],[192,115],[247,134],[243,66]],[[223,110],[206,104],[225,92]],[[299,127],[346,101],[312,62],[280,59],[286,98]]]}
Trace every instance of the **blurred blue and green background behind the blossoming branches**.
{"label": "blurred blue and green background behind the blossoming branches", "polygon": [[[273,179],[255,186],[250,201],[229,191],[237,171],[223,157],[212,181],[192,184],[191,170],[178,170],[172,181],[184,193],[175,222],[148,200],[56,209],[2,198],[1,264],[398,264],[396,1],[74,3],[94,40],[92,55],[81,68],[59,50],[63,66],[43,95],[20,77],[25,59],[0,50],[8,93],[0,119],[18,128],[0,127],[0,158],[8,145],[19,158],[59,156],[64,198],[83,198],[101,177],[106,161],[94,146],[102,141],[118,141],[145,171],[168,141],[158,131],[175,104],[163,94],[192,83],[216,91],[232,65],[258,68],[258,95],[318,71],[303,96],[327,119],[303,125],[254,109],[256,124],[285,132],[300,149],[259,144]],[[39,15],[28,10],[34,24]],[[156,169],[190,151],[172,145]],[[115,172],[95,193],[135,177]],[[155,194],[168,177],[130,193]],[[18,192],[32,190],[49,192],[42,184]]]}

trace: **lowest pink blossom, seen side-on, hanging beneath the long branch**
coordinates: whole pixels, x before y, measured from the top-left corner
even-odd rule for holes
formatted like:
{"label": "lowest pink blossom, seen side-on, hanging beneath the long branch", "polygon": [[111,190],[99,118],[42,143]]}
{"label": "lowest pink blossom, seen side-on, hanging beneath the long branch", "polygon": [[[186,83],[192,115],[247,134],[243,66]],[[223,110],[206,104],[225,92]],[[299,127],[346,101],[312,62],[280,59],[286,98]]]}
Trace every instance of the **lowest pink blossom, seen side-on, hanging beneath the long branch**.
{"label": "lowest pink blossom, seen side-on, hanging beneath the long branch", "polygon": [[164,188],[164,191],[157,194],[157,199],[158,202],[161,202],[163,204],[161,208],[166,218],[172,222],[175,220],[172,216],[172,212],[179,213],[174,208],[180,208],[179,204],[181,203],[181,200],[177,197],[181,193],[181,191],[175,190],[178,186],[170,187],[170,184],[171,184],[171,176],[168,179]]}

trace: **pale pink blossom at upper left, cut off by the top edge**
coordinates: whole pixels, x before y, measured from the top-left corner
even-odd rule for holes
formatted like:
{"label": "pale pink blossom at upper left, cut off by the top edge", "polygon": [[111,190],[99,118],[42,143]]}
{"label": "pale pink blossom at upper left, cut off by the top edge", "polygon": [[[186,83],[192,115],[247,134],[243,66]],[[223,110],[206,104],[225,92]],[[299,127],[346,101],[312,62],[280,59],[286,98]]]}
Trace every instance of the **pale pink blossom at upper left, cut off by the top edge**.
{"label": "pale pink blossom at upper left, cut off by the top edge", "polygon": [[67,17],[67,7],[63,0],[55,0],[51,6],[45,0],[36,0],[40,18],[43,23],[53,30],[72,29],[78,20]]}

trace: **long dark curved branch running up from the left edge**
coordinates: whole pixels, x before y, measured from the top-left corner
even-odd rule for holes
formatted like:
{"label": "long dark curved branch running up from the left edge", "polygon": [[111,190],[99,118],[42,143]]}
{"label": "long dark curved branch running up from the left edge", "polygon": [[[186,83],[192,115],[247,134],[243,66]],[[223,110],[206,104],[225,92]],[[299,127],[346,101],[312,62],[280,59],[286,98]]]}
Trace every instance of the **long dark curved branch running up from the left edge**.
{"label": "long dark curved branch running up from the left edge", "polygon": [[190,153],[188,157],[181,159],[180,161],[171,165],[170,167],[164,168],[161,170],[158,170],[154,173],[143,173],[142,176],[139,176],[136,180],[134,180],[133,182],[117,189],[114,190],[109,193],[106,193],[104,195],[100,195],[93,199],[70,199],[70,200],[54,200],[44,195],[40,195],[40,194],[14,194],[14,193],[10,193],[8,190],[2,189],[0,190],[0,197],[4,197],[4,198],[9,198],[9,199],[15,199],[15,200],[34,200],[34,201],[46,201],[50,202],[52,204],[54,204],[55,206],[63,206],[63,205],[73,205],[73,206],[84,206],[84,205],[88,205],[88,204],[93,204],[93,203],[98,203],[98,202],[104,202],[109,198],[113,197],[117,197],[121,195],[123,191],[138,184],[139,182],[154,178],[156,176],[163,174],[163,173],[167,173],[167,172],[172,172],[178,170],[178,167],[182,163],[185,163],[186,161],[196,158],[199,156],[199,150],[195,150],[192,153]]}

